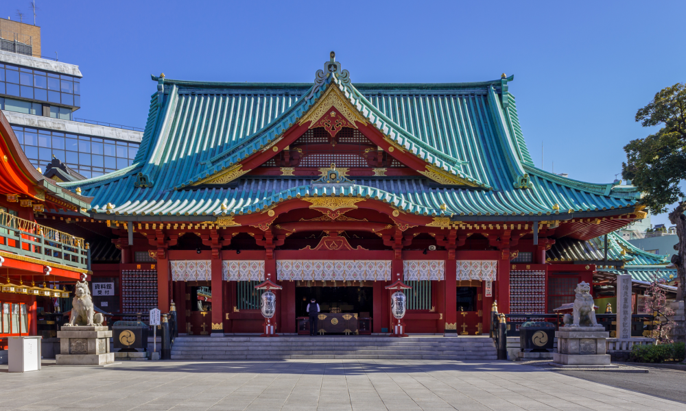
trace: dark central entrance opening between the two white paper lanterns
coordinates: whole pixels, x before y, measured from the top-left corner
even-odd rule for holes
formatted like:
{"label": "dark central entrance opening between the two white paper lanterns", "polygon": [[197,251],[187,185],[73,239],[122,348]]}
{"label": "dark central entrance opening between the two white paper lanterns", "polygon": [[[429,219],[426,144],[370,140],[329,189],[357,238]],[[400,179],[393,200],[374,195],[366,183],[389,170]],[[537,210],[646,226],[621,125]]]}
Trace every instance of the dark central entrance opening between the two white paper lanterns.
{"label": "dark central entrance opening between the two white paper lanterns", "polygon": [[371,334],[373,282],[299,281],[296,284],[298,334],[309,334],[307,304],[320,306],[317,334]]}

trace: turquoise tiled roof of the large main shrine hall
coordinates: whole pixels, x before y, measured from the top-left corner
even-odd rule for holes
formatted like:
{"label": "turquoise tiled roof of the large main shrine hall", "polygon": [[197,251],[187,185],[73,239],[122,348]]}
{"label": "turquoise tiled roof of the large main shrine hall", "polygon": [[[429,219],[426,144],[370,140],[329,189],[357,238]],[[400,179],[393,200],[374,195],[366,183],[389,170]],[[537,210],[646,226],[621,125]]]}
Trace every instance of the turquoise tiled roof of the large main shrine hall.
{"label": "turquoise tiled roof of the large main shrine hall", "polygon": [[[288,198],[353,195],[383,199],[416,214],[544,215],[627,208],[639,198],[632,188],[577,182],[536,169],[508,92],[513,77],[461,84],[353,85],[330,75],[314,86],[153,79],[158,92],[152,95],[132,166],[63,184],[94,197],[97,212],[113,203],[112,212],[123,215],[243,214]],[[329,86],[338,87],[398,145],[477,187],[440,186],[423,176],[352,176],[353,186],[316,188],[311,179],[250,174],[230,185],[189,186],[274,142]],[[445,211],[440,209],[443,203]],[[222,204],[228,208],[222,210]]]}

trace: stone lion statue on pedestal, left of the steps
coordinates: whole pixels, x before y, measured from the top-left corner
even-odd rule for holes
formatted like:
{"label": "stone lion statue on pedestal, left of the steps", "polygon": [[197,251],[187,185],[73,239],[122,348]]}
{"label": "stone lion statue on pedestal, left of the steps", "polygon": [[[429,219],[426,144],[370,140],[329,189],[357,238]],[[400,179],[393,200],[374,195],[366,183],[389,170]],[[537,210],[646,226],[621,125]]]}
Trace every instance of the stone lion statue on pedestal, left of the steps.
{"label": "stone lion statue on pedestal, left of the steps", "polygon": [[115,362],[115,353],[110,353],[112,332],[102,325],[102,314],[93,314],[91,292],[84,277],[76,282],[72,306],[69,323],[57,332],[60,354],[55,356],[56,363],[102,365]]}

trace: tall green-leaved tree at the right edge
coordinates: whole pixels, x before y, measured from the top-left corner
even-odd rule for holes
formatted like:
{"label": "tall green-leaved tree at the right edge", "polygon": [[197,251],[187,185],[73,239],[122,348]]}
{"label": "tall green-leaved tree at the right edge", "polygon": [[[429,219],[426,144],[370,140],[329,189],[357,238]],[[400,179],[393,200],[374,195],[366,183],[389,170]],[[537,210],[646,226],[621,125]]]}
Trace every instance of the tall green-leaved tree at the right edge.
{"label": "tall green-leaved tree at the right edge", "polygon": [[[646,138],[632,140],[624,146],[627,162],[622,164],[622,176],[631,179],[644,193],[641,203],[652,214],[667,211],[670,204],[678,206],[670,212],[676,225],[678,254],[672,258],[678,277],[677,301],[686,297],[686,201],[679,184],[686,180],[686,85],[663,88],[636,112],[636,121],[643,127],[661,125],[662,128]],[[684,338],[683,326],[675,329],[676,338]]]}

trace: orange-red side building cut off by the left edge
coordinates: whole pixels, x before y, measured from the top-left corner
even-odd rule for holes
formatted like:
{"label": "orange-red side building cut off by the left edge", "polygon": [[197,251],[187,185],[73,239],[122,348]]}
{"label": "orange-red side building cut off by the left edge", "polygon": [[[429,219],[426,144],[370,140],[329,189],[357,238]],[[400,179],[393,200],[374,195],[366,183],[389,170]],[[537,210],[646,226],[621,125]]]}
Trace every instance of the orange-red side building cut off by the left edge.
{"label": "orange-red side building cut off by the left edge", "polygon": [[62,214],[86,219],[90,199],[40,175],[2,112],[0,136],[0,350],[5,350],[9,336],[39,335],[39,314],[54,312],[58,299],[70,297],[65,286],[88,275],[84,239],[38,220]]}

